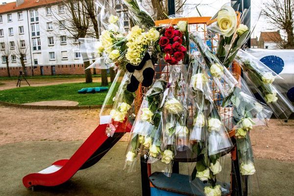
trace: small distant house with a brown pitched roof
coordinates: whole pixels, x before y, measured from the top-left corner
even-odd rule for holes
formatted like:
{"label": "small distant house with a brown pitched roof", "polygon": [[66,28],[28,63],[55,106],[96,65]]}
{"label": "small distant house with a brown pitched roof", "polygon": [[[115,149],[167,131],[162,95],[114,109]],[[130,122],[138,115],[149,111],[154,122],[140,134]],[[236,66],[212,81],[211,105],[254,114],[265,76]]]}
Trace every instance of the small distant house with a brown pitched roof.
{"label": "small distant house with a brown pitched roof", "polygon": [[258,48],[259,49],[278,49],[279,45],[283,44],[280,31],[261,32]]}

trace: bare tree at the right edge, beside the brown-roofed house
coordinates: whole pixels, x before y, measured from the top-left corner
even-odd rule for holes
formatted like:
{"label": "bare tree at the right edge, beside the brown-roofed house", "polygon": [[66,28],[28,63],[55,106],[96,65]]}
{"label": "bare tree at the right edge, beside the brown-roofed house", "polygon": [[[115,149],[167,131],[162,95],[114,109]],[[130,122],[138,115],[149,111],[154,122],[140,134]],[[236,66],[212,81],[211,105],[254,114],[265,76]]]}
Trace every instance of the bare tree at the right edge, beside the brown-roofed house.
{"label": "bare tree at the right edge, beside the brown-roofed house", "polygon": [[271,0],[264,3],[262,14],[270,24],[287,34],[284,49],[294,49],[294,0]]}

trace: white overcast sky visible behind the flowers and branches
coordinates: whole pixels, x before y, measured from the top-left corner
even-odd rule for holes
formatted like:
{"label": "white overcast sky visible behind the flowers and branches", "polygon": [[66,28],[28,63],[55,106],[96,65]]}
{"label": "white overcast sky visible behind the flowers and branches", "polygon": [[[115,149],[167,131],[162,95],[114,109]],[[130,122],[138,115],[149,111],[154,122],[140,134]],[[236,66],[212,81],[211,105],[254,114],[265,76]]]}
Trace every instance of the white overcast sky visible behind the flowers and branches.
{"label": "white overcast sky visible behind the flowers and branches", "polygon": [[[0,4],[2,2],[13,2],[15,0],[0,0]],[[263,2],[270,1],[270,0],[251,0],[251,24],[253,24],[253,21],[256,21],[260,11]],[[213,16],[223,5],[224,3],[229,2],[229,0],[187,0],[186,6],[188,7],[195,7],[193,4],[200,4],[198,6],[198,10],[201,13],[202,16]],[[187,11],[187,7],[184,8],[185,12],[184,15],[186,16],[199,16],[196,9],[190,9]],[[256,37],[260,35],[261,31],[269,31],[269,30],[276,30],[276,29],[270,29],[269,25],[267,25],[267,21],[261,17],[255,27],[255,31],[252,34],[252,37]]]}

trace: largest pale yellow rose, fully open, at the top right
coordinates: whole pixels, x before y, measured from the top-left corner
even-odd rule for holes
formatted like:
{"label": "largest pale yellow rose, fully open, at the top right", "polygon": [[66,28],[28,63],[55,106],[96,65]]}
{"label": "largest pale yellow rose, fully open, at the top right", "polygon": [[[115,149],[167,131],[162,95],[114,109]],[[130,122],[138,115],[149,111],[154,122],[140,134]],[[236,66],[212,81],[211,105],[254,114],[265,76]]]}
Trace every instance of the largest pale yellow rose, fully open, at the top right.
{"label": "largest pale yellow rose, fully open, at the top right", "polygon": [[218,26],[220,33],[225,37],[230,37],[237,28],[237,15],[230,5],[224,5],[218,13]]}

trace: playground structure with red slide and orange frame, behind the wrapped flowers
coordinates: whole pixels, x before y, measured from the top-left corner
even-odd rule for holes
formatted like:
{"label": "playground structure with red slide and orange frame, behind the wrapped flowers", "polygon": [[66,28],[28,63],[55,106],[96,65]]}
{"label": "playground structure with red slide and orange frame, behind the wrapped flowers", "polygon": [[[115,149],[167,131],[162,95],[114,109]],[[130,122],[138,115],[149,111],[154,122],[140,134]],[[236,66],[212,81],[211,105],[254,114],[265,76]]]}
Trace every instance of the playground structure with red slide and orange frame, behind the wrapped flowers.
{"label": "playground structure with red slide and orange frame, behind the wrapped flowers", "polygon": [[[197,30],[206,35],[206,23],[210,20],[210,17],[194,17],[194,18],[180,18],[172,20],[156,21],[156,25],[172,24],[175,25],[179,20],[187,21],[190,30]],[[206,40],[209,42],[211,49],[215,49],[218,36]],[[193,47],[191,47],[193,50]],[[190,50],[190,51],[191,51]],[[158,78],[162,73],[163,68],[170,65],[163,64],[161,61],[154,66],[155,77]],[[238,65],[234,64],[231,68],[232,73],[241,73],[241,69]],[[214,87],[213,89],[216,89]],[[136,92],[135,99],[135,111],[140,108],[142,98],[144,96],[145,89],[139,88]],[[218,104],[221,102],[220,93],[215,90],[215,102]],[[232,108],[219,107],[220,114],[224,117],[224,123],[232,127],[231,111]],[[193,111],[191,115],[193,116]],[[124,133],[130,132],[131,124],[120,124],[113,137],[107,137],[107,124],[100,124],[95,131],[89,136],[89,138],[82,144],[81,147],[73,154],[70,159],[62,159],[54,162],[51,166],[37,173],[31,173],[23,178],[23,183],[26,188],[32,188],[34,186],[56,186],[69,180],[78,170],[89,168],[96,164],[106,153],[113,147],[123,136]],[[235,131],[229,132],[230,137],[234,141]],[[247,194],[247,186],[242,186],[242,179],[239,170],[238,158],[237,158],[236,145],[231,150],[231,176],[230,182],[223,182],[226,189],[222,190],[223,196],[242,196]],[[187,155],[187,153],[184,153]],[[201,193],[195,193],[189,185],[189,176],[179,174],[179,162],[196,162],[196,159],[187,159],[183,154],[178,153],[175,157],[175,163],[173,165],[173,173],[171,177],[167,177],[161,172],[151,172],[151,165],[141,162],[141,179],[142,179],[142,195],[143,196],[195,196],[201,195]]]}

